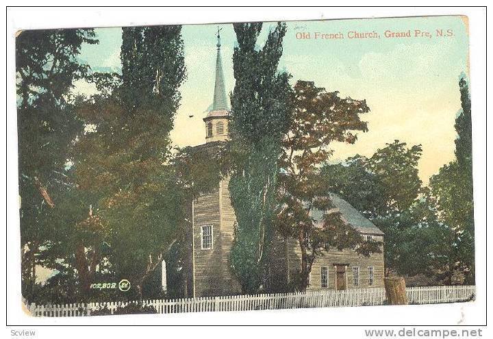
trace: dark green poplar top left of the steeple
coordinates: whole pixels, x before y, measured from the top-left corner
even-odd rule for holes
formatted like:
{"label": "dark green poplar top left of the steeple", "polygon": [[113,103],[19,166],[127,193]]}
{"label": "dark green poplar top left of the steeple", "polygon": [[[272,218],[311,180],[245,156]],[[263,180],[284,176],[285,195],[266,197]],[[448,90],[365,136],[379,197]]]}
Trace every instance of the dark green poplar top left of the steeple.
{"label": "dark green poplar top left of the steeple", "polygon": [[122,28],[123,101],[129,109],[141,105],[173,116],[181,95],[177,84],[186,79],[181,25]]}

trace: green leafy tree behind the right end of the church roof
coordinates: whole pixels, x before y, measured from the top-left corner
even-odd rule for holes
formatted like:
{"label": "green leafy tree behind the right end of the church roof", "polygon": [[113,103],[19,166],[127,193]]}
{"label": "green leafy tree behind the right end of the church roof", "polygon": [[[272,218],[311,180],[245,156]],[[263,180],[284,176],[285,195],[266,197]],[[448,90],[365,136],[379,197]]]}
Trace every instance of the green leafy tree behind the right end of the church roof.
{"label": "green leafy tree behind the right end of the church roof", "polygon": [[[414,274],[416,269],[407,267],[407,258],[417,255],[414,249],[425,250],[414,242],[419,229],[425,227],[419,225],[437,225],[424,212],[424,202],[417,200],[422,190],[418,177],[421,151],[420,145],[408,148],[405,142],[394,140],[370,158],[355,155],[322,170],[330,190],[344,197],[385,233],[386,275]],[[421,195],[424,199],[425,195]]]}

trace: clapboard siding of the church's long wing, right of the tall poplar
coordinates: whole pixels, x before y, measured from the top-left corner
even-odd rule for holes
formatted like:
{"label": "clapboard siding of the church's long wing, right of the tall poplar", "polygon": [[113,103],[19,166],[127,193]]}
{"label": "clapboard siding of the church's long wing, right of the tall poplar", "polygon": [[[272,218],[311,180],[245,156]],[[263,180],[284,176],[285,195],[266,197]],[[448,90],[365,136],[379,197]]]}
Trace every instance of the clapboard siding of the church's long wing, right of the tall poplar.
{"label": "clapboard siding of the church's long wing, right of the tall poplar", "polygon": [[[374,236],[375,241],[383,242],[383,237]],[[301,249],[295,239],[288,239],[289,256],[288,272],[301,269]],[[373,266],[373,285],[370,287],[383,287],[384,264],[383,249],[382,253],[372,253],[369,257],[358,255],[352,249],[329,249],[323,251],[315,259],[309,277],[309,289],[322,288],[320,281],[320,271],[322,267],[327,267],[328,285],[327,288],[336,288],[336,267],[334,264],[347,264],[346,267],[346,287],[347,288],[367,288],[368,286],[368,266]],[[353,286],[353,267],[359,267],[359,286]]]}

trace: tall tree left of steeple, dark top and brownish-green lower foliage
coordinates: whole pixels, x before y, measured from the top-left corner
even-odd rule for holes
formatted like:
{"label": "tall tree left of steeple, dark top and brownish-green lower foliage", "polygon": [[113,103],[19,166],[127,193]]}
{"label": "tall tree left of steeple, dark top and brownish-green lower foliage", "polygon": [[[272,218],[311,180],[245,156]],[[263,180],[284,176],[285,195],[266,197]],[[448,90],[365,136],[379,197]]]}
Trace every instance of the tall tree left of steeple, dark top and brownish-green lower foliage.
{"label": "tall tree left of steeple, dark top and brownish-green lower foliage", "polygon": [[[92,215],[101,220],[96,234],[86,227],[81,238],[86,253],[107,243],[108,258],[99,261],[108,259],[142,297],[144,281],[187,220],[169,138],[186,77],[181,27],[124,28],[121,58],[121,86],[78,111],[93,128],[75,143],[74,177],[94,197]],[[82,258],[81,266],[90,261]]]}

